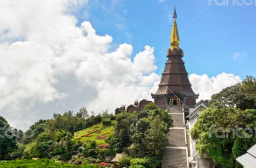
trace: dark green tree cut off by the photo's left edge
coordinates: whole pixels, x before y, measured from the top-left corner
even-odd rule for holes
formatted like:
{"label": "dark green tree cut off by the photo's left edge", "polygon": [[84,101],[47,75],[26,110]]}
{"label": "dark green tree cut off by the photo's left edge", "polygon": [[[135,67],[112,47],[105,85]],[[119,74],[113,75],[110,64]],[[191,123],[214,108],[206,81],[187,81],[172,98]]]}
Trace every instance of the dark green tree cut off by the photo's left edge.
{"label": "dark green tree cut off by the photo's left edge", "polygon": [[3,116],[0,116],[0,128],[0,160],[3,160],[17,149],[17,137]]}

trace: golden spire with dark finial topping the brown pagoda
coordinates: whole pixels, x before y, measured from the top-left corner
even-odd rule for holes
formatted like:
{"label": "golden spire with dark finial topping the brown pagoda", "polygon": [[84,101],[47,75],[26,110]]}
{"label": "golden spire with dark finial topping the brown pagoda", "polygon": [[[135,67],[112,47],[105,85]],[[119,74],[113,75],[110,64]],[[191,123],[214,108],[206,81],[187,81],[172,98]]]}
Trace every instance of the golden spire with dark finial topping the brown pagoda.
{"label": "golden spire with dark finial topping the brown pagoda", "polygon": [[174,48],[179,49],[179,44],[180,44],[179,32],[176,24],[177,13],[176,13],[175,7],[174,7],[173,18],[174,20],[173,20],[172,35],[171,35],[171,50],[173,50]]}

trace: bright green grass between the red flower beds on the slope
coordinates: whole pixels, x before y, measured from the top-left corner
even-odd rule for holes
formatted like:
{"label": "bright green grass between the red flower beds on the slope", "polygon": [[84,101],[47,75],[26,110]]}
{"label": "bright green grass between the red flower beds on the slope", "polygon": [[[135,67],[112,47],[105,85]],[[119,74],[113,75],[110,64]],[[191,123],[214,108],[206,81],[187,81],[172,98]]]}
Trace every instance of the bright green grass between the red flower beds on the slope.
{"label": "bright green grass between the red flower beds on the slope", "polygon": [[[98,127],[97,129],[90,127],[90,128],[75,132],[74,137],[76,138],[76,137],[83,136],[85,134],[89,134],[89,132],[93,131],[93,130],[100,130],[100,133],[94,132],[94,133],[90,134],[90,135],[92,135],[91,137],[82,137],[81,139],[79,139],[79,141],[86,142],[86,141],[95,140],[97,144],[107,144],[107,143],[105,143],[105,139],[96,139],[96,137],[102,135],[104,132],[111,132],[112,130],[114,130],[114,124],[115,124],[115,122],[113,122],[112,125],[106,126],[106,125],[102,125],[102,123],[100,123],[99,125],[97,125],[97,127]],[[111,135],[111,133],[106,134],[107,137],[109,135]]]}

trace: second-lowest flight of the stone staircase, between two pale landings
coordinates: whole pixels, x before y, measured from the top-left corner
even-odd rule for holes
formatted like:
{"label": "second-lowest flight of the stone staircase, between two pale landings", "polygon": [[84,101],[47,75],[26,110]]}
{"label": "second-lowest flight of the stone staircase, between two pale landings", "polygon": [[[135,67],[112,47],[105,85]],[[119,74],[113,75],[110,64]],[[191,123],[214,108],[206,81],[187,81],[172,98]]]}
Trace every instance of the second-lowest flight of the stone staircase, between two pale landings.
{"label": "second-lowest flight of the stone staircase, between two pale landings", "polygon": [[185,130],[184,129],[170,129],[168,134],[168,145],[172,147],[186,147]]}

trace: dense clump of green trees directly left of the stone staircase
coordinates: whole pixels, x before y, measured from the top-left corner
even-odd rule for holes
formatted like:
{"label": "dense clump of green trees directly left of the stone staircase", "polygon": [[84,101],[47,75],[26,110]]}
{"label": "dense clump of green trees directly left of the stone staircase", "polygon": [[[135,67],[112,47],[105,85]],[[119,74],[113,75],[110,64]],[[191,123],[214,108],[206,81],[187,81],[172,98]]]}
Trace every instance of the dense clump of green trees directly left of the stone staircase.
{"label": "dense clump of green trees directly left of the stone staircase", "polygon": [[145,106],[143,111],[119,113],[115,133],[110,138],[112,150],[129,153],[131,157],[161,158],[171,125],[168,111],[154,103]]}

